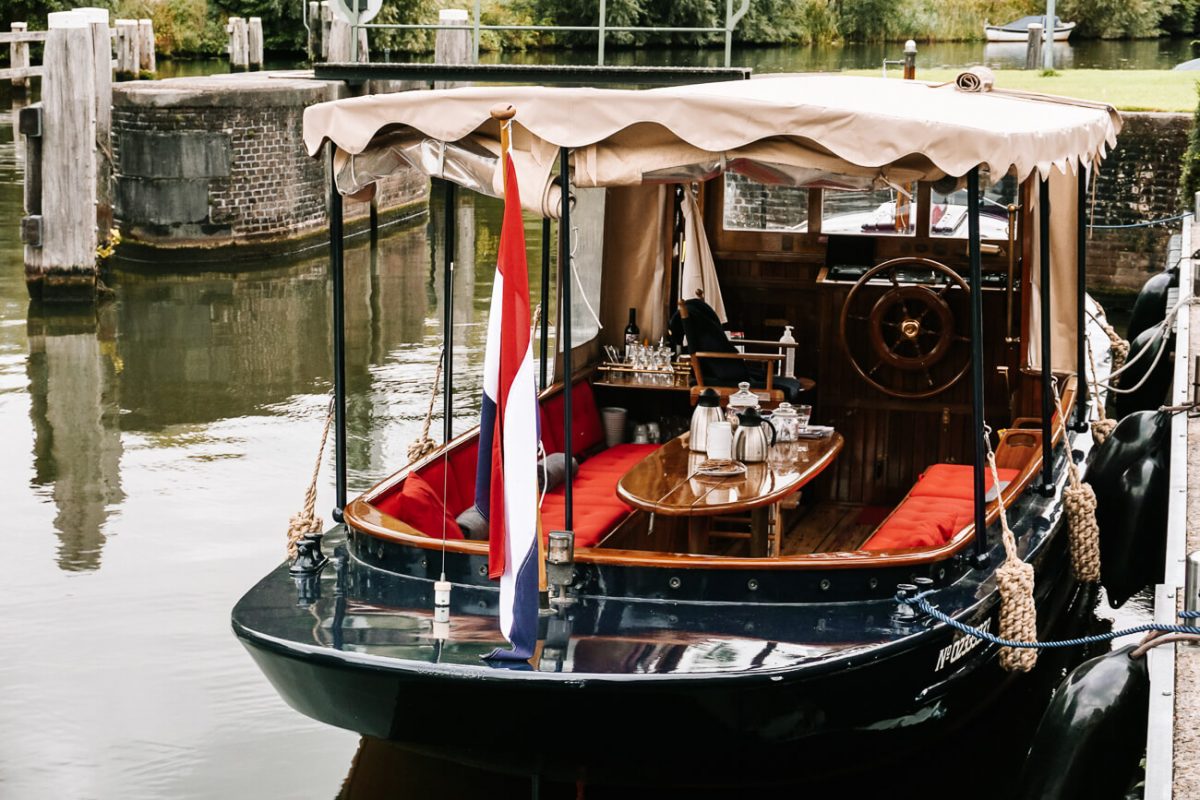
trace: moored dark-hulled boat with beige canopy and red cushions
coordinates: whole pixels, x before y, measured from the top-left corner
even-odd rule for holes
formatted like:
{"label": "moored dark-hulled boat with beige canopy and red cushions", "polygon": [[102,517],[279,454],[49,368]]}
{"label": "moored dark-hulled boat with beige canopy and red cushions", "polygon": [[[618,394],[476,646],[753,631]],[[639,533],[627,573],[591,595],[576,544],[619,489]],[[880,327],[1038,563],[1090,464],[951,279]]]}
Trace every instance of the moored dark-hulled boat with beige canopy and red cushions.
{"label": "moored dark-hulled boat with beige canopy and red cushions", "polygon": [[[686,757],[695,775],[767,775],[931,752],[1020,673],[917,599],[1000,631],[1002,511],[1036,573],[1040,636],[1076,593],[1063,489],[1103,399],[1080,384],[1088,350],[1097,377],[1110,363],[1084,291],[1084,204],[1120,128],[1104,104],[845,76],[475,86],[307,109],[310,155],[331,164],[337,524],[246,593],[235,634],[300,712],[499,769],[596,775]],[[490,542],[458,524],[478,428],[444,432],[349,498],[337,345],[342,196],[415,168],[452,209],[463,188],[503,196],[505,163],[527,216],[577,231],[542,260],[563,297],[541,317],[538,403],[544,451],[580,462],[545,489],[538,646],[508,667],[482,658],[506,646]],[[758,205],[742,213],[748,197]],[[965,224],[934,231],[932,209],[954,197]],[[881,201],[901,206],[890,223],[836,221]],[[986,239],[985,206],[1001,215]],[[688,283],[696,258],[710,259],[702,293]],[[740,393],[706,367],[742,357],[716,308],[750,337],[737,341],[746,355],[772,350],[757,361],[767,384],[740,391],[764,409],[811,404],[812,429],[744,473],[706,476],[690,433],[673,434],[712,402],[706,389]],[[692,343],[712,314],[728,349],[695,345],[653,375],[617,363],[604,345],[624,344],[626,309],[650,341],[679,309]],[[560,331],[548,344],[547,317]],[[794,380],[773,385],[785,321]],[[606,428],[617,407],[630,423],[661,420],[666,441],[622,441]]]}

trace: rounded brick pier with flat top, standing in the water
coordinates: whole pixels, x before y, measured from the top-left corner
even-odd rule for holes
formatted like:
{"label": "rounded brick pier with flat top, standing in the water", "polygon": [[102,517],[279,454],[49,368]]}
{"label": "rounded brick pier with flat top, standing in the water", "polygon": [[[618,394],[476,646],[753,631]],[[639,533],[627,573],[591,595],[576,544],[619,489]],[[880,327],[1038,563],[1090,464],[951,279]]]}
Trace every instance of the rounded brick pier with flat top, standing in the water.
{"label": "rounded brick pier with flat top, standing in the water", "polygon": [[[115,213],[125,239],[156,248],[287,252],[328,224],[328,161],[304,148],[304,109],[338,83],[265,73],[121,84],[113,91]],[[395,176],[379,207],[422,203],[427,181]],[[348,203],[353,218],[367,212]]]}

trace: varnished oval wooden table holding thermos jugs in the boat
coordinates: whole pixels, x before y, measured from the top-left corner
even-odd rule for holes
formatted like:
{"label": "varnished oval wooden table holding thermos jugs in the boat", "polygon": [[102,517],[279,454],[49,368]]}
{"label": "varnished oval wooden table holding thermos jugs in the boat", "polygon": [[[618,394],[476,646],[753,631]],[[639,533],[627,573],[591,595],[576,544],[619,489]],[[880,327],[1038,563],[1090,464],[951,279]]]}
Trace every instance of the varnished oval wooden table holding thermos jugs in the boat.
{"label": "varnished oval wooden table holding thermos jugs in the boat", "polygon": [[[688,449],[689,434],[677,437],[638,462],[617,483],[617,497],[642,511],[665,517],[686,517],[691,552],[707,549],[713,517],[751,515],[750,554],[768,554],[772,506],[821,474],[841,451],[840,433],[822,439],[781,443],[766,462],[746,464],[732,477],[697,475],[707,458]],[[779,552],[776,546],[775,552]]]}

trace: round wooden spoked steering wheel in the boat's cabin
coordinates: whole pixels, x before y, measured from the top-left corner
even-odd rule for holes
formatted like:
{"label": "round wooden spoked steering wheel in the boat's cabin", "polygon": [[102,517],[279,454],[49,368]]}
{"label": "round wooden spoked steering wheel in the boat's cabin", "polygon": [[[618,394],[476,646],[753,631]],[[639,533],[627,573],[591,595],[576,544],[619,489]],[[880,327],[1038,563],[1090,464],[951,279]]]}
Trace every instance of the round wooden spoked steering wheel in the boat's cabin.
{"label": "round wooden spoked steering wheel in the boat's cabin", "polygon": [[[901,272],[919,273],[922,283],[901,284]],[[887,279],[892,288],[864,309],[866,313],[856,313],[856,302],[862,305],[866,296],[864,287],[877,278]],[[851,287],[839,320],[841,347],[854,372],[884,395],[908,399],[932,397],[958,383],[971,367],[970,351],[958,368],[948,365],[946,356],[954,349],[966,350],[955,345],[970,338],[958,332],[946,299],[950,289],[971,294],[961,275],[928,258],[894,258],[868,270]],[[851,335],[850,321],[865,323],[865,337]],[[862,353],[868,348],[870,354]],[[865,367],[869,362],[874,363]],[[887,372],[881,372],[884,368]],[[889,375],[887,383],[884,374]]]}

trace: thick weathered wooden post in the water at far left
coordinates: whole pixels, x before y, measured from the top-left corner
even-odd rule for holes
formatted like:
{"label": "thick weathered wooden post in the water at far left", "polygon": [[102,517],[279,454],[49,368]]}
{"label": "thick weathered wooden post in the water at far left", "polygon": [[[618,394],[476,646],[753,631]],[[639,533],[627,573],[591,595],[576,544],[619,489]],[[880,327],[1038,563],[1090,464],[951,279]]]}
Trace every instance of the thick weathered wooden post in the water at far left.
{"label": "thick weathered wooden post in the water at far left", "polygon": [[96,47],[83,14],[49,14],[43,68],[42,236],[25,246],[25,283],[35,299],[94,300]]}

